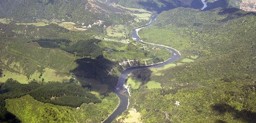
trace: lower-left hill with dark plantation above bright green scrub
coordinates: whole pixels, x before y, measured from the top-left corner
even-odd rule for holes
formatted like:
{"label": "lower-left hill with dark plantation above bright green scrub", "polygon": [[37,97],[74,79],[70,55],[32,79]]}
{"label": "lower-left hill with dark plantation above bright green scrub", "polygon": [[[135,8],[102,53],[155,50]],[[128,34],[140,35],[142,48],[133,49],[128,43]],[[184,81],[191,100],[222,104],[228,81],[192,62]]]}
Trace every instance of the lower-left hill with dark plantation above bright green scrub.
{"label": "lower-left hill with dark plantation above bright green scrub", "polygon": [[0,87],[0,122],[4,123],[98,123],[118,105],[113,93],[98,98],[75,83],[20,84],[8,79]]}

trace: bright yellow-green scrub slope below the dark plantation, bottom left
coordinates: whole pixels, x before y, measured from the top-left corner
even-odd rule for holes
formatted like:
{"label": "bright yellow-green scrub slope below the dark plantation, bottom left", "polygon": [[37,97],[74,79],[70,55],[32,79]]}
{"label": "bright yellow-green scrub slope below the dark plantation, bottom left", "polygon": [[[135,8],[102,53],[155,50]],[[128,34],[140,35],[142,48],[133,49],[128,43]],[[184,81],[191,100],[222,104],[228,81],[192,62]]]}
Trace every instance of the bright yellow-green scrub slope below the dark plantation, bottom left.
{"label": "bright yellow-green scrub slope below the dark plantation, bottom left", "polygon": [[[115,110],[119,98],[110,93],[101,103],[82,104],[79,109],[42,103],[26,95],[21,98],[5,100],[5,107],[22,123],[95,123]],[[92,115],[91,112],[94,112]]]}

